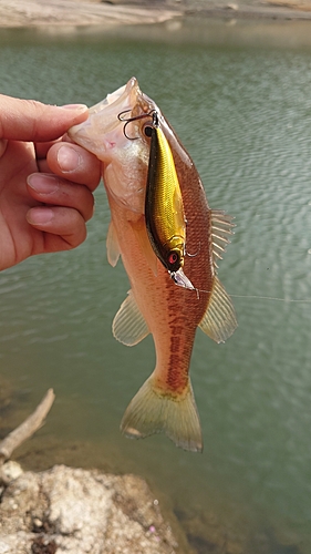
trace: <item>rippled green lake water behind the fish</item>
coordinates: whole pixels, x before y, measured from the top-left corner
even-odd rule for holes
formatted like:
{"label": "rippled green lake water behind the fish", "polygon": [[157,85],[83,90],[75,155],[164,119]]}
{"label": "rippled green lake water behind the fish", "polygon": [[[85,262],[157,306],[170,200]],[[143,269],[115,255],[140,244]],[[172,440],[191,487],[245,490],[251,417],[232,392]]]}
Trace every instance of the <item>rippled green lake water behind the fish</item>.
{"label": "rippled green lake water behind the fish", "polygon": [[[120,434],[155,356],[151,338],[128,349],[111,332],[128,281],[106,260],[102,186],[81,247],[0,275],[1,375],[25,411],[49,387],[56,393],[25,451],[54,438],[48,461],[145,476],[182,521],[191,552],[311,552],[309,25],[0,31],[6,94],[92,105],[135,75],[190,152],[210,206],[236,217],[219,277],[239,327],[220,346],[198,331],[191,360],[201,455],[164,435]],[[64,458],[63,444],[74,441],[83,447]]]}

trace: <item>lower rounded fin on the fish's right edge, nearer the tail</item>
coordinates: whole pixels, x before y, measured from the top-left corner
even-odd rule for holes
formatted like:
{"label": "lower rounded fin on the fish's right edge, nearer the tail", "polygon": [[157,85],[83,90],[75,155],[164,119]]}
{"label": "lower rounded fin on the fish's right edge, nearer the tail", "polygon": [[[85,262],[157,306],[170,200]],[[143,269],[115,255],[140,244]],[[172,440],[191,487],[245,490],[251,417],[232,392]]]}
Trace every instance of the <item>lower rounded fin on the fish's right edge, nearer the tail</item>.
{"label": "lower rounded fin on the fish's right edge, nearer the tail", "polygon": [[216,342],[225,342],[237,326],[238,322],[231,299],[218,277],[215,276],[208,307],[199,328]]}

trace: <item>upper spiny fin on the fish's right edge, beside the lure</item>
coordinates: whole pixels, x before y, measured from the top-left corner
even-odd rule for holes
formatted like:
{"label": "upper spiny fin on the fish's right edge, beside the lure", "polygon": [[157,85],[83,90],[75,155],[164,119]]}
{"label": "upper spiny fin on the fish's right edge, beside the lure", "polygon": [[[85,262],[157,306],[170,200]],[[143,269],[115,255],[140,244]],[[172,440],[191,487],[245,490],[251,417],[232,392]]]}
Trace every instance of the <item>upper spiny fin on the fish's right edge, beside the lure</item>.
{"label": "upper spiny fin on the fish's right edge, beside the lure", "polygon": [[230,244],[228,236],[234,235],[234,217],[227,215],[221,209],[211,209],[211,242],[214,266],[218,268],[217,260],[222,259],[226,246]]}

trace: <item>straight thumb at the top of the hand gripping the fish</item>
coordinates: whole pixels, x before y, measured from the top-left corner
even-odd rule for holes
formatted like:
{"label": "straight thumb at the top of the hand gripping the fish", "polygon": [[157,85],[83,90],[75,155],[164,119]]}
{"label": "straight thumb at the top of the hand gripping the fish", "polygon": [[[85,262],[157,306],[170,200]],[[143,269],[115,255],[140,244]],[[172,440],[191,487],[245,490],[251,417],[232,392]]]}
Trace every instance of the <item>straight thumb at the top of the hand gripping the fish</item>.
{"label": "straight thumb at the top of the hand gripping the fish", "polygon": [[0,140],[46,142],[87,119],[87,106],[54,106],[0,94]]}

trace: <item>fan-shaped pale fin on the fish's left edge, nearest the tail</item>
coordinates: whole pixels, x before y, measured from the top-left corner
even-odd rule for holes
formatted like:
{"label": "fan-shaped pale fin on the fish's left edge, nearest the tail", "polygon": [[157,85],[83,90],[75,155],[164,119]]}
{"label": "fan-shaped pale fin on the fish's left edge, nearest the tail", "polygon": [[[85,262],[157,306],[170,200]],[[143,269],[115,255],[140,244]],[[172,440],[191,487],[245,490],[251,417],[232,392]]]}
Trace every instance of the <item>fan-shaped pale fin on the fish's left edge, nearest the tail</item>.
{"label": "fan-shaped pale fin on the fish's left edge, nearest the tail", "polygon": [[114,317],[112,332],[116,340],[126,346],[137,345],[149,334],[132,290]]}

